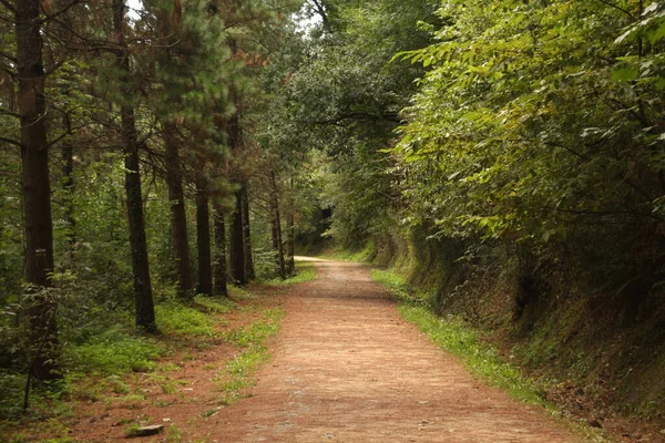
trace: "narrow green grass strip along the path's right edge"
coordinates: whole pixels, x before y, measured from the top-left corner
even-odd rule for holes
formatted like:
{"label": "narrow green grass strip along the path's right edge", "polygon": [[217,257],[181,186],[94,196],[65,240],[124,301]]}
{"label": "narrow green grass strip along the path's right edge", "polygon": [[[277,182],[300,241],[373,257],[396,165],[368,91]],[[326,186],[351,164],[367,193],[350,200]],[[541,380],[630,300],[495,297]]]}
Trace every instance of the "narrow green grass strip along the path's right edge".
{"label": "narrow green grass strip along the path's right edge", "polygon": [[[431,309],[428,295],[413,293],[398,274],[374,269],[371,277],[396,296],[399,312],[406,321],[417,324],[436,344],[459,357],[472,373],[491,385],[507,390],[518,400],[542,405],[552,415],[561,416],[561,412],[544,399],[544,385],[529,379],[516,365],[503,360],[497,349],[482,340],[478,330],[453,316],[437,316]],[[579,423],[567,424],[590,441],[607,442],[598,430]]]}

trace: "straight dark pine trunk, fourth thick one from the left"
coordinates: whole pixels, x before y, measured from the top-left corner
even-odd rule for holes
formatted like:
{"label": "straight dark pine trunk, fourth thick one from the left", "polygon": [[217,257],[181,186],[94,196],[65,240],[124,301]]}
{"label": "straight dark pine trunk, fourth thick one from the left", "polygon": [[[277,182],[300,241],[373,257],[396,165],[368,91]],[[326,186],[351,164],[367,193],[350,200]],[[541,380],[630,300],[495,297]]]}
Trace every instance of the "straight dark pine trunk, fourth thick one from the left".
{"label": "straight dark pine trunk, fourth thick one from the left", "polygon": [[213,265],[211,260],[211,212],[205,179],[196,183],[196,244],[198,247],[198,293],[213,295]]}

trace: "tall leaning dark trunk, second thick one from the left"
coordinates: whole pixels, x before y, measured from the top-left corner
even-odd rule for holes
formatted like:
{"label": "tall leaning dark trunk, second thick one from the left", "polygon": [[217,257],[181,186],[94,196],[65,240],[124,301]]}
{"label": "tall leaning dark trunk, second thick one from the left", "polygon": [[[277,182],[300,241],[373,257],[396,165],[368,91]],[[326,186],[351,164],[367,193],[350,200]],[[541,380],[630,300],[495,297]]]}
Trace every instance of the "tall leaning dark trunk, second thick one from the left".
{"label": "tall leaning dark trunk, second thick one from the left", "polygon": [[[120,47],[116,66],[121,72],[121,87],[124,100],[132,96],[129,85],[131,69],[130,54],[124,44],[124,0],[113,0],[113,29]],[[125,157],[125,193],[127,198],[127,222],[130,247],[132,251],[132,274],[134,277],[134,303],[136,307],[136,327],[147,332],[156,331],[155,309],[150,280],[147,241],[145,239],[145,218],[143,216],[143,194],[141,193],[141,173],[139,168],[139,134],[134,117],[134,107],[127,102],[121,105],[121,133]]]}

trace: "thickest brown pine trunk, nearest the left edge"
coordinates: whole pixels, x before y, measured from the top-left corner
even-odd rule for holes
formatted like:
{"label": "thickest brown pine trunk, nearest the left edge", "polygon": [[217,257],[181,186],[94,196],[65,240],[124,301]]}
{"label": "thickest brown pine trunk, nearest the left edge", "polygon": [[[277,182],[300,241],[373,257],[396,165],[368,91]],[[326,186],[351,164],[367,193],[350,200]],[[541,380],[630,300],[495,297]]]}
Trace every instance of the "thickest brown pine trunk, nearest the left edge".
{"label": "thickest brown pine trunk, nearest the left edge", "polygon": [[28,310],[30,347],[31,352],[34,353],[30,370],[35,380],[53,380],[62,377],[58,365],[57,306],[38,288],[51,285],[49,272],[53,270],[53,222],[40,1],[17,1],[16,8],[22,193],[25,217],[25,281],[34,286]]}

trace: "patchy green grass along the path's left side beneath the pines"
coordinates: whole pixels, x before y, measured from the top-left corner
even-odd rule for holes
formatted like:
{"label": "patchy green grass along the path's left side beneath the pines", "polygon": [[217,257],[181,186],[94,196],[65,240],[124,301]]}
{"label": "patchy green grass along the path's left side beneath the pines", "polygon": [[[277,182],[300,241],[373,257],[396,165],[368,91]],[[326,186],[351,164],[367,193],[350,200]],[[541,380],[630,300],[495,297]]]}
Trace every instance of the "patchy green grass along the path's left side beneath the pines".
{"label": "patchy green grass along the path's left side beneath the pines", "polygon": [[[316,276],[311,264],[297,264],[297,268],[296,277],[280,284],[293,285]],[[158,360],[183,347],[192,349],[191,356],[195,358],[196,350],[214,346],[219,338],[238,348],[238,353],[227,362],[221,374],[224,402],[236,401],[243,390],[253,385],[250,375],[258,365],[269,359],[265,341],[277,333],[285,312],[280,309],[260,311],[260,303],[256,300],[262,296],[247,289],[232,286],[229,292],[231,299],[196,296],[190,305],[170,300],[158,302],[155,307],[158,336],[135,333],[133,316],[124,310],[111,311],[103,321],[91,322],[90,328],[80,331],[75,340],[63,342],[65,380],[58,387],[33,390],[28,414],[21,410],[25,375],[0,371],[0,384],[3,387],[0,390],[0,441],[34,441],[37,434],[30,432],[27,435],[25,429],[35,430],[39,435],[55,434],[55,423],[71,415],[74,402],[79,401],[139,408],[145,396],[134,392],[127,375],[177,371],[181,369],[177,364],[160,364]],[[249,312],[253,318],[259,312],[260,319],[244,328],[222,332],[219,326],[225,324],[223,315],[233,311]],[[164,393],[176,390],[168,377],[160,387]],[[165,408],[168,404],[164,401],[156,405]]]}

